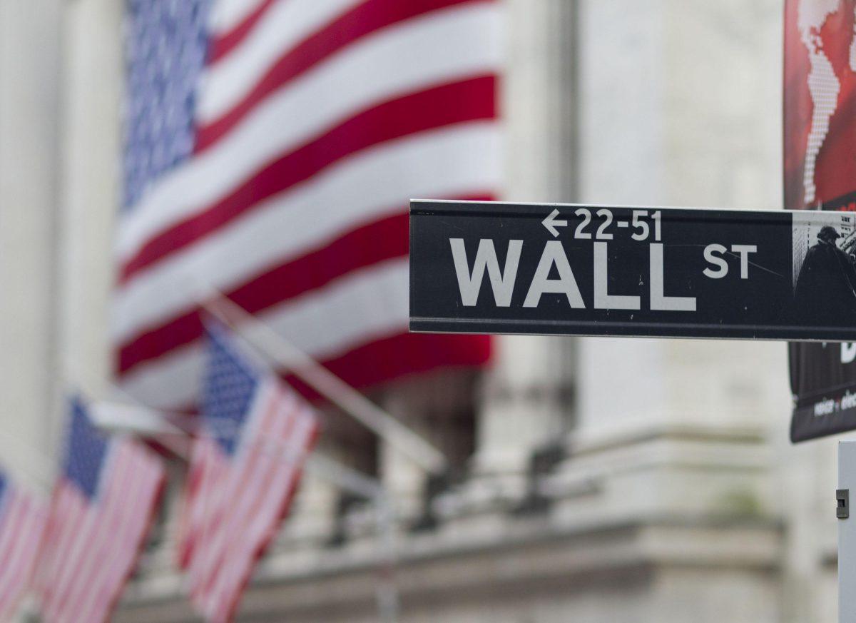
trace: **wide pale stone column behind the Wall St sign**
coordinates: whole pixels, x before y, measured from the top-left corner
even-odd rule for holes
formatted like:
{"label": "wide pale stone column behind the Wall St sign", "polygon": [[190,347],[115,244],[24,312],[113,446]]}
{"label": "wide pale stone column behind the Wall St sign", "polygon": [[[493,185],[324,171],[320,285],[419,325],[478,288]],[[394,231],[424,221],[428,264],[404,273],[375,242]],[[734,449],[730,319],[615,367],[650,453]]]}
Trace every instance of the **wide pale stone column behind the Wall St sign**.
{"label": "wide pale stone column behind the Wall St sign", "polygon": [[[781,3],[580,3],[580,200],[781,205]],[[770,516],[787,357],[763,342],[580,341],[580,412],[554,482],[567,519]]]}

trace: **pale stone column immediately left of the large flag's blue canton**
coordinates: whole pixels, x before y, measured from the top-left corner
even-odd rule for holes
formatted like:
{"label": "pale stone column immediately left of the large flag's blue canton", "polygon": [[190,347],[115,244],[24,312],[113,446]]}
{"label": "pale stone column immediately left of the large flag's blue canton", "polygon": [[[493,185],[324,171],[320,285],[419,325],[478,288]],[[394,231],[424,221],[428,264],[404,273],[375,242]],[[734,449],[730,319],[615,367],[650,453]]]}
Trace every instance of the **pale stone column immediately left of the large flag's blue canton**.
{"label": "pale stone column immediately left of the large flag's blue canton", "polygon": [[62,109],[60,283],[62,371],[95,396],[113,370],[110,290],[122,175],[123,5],[78,0],[66,9]]}

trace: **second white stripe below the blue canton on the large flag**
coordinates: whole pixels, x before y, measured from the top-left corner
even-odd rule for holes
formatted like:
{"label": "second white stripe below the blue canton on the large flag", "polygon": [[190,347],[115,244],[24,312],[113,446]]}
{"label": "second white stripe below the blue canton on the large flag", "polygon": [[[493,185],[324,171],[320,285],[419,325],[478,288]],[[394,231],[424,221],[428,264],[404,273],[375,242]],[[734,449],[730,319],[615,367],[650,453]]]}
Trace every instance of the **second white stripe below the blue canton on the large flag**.
{"label": "second white stripe below the blue canton on the large flag", "polygon": [[199,281],[229,290],[361,224],[401,213],[410,197],[495,189],[501,159],[495,122],[419,134],[348,158],[119,289],[113,339],[121,344],[193,309]]}

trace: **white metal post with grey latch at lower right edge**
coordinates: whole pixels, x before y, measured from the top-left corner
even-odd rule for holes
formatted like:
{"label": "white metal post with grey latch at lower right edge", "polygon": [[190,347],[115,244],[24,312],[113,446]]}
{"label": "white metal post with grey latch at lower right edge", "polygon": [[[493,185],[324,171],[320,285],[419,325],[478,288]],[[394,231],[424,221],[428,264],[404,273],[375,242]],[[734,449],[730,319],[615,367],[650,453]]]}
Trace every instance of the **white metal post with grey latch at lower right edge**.
{"label": "white metal post with grey latch at lower right edge", "polygon": [[856,440],[838,443],[838,620],[856,621],[856,519],[850,497],[856,495]]}

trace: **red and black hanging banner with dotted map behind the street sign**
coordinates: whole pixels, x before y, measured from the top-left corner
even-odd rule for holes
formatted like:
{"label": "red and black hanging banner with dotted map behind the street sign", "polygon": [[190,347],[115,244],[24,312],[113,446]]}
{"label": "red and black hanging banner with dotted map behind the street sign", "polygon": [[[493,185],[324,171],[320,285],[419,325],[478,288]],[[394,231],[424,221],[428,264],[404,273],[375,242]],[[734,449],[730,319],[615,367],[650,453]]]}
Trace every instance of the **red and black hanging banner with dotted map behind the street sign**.
{"label": "red and black hanging banner with dotted map behind the street sign", "polygon": [[[786,0],[784,187],[790,210],[856,211],[854,0]],[[841,249],[853,258],[845,240]],[[856,345],[790,345],[794,442],[856,429]]]}

